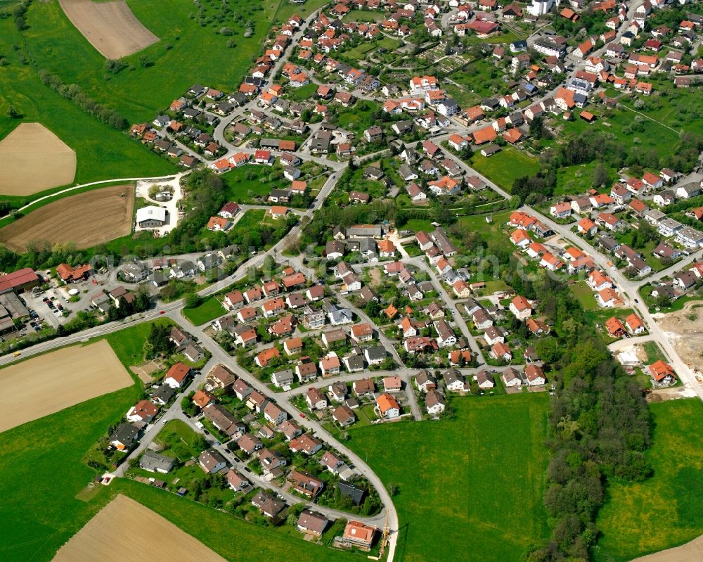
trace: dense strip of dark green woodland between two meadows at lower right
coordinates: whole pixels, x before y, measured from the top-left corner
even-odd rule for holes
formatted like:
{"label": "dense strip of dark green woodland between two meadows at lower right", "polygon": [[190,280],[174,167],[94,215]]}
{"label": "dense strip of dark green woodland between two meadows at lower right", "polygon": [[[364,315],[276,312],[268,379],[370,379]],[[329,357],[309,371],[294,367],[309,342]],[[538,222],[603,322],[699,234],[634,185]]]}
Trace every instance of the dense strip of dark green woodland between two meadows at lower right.
{"label": "dense strip of dark green woodland between two meadows at lower right", "polygon": [[[518,283],[514,283],[514,286]],[[552,529],[529,562],[587,561],[598,538],[595,520],[609,478],[644,480],[652,473],[650,414],[642,392],[614,362],[567,286],[549,276],[523,282],[556,336],[536,345],[550,363],[551,401],[544,504]]]}

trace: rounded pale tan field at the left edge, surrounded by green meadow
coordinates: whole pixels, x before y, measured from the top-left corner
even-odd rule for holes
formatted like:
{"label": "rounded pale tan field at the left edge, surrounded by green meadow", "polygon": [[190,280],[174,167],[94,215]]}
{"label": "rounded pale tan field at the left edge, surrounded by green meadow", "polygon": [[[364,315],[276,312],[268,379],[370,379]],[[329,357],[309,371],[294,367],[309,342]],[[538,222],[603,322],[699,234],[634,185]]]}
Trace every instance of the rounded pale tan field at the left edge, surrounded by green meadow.
{"label": "rounded pale tan field at the left edge, surrounded by green meadow", "polygon": [[76,153],[41,123],[20,123],[0,142],[1,195],[32,195],[75,175]]}

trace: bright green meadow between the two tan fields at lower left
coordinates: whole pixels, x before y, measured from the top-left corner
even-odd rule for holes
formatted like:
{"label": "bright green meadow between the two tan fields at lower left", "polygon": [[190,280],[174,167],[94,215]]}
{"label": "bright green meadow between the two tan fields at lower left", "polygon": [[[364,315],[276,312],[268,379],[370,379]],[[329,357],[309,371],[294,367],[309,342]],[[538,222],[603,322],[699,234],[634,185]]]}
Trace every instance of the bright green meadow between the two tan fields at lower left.
{"label": "bright green meadow between the two tan fields at lower left", "polygon": [[0,518],[13,522],[0,528],[4,559],[51,561],[99,511],[108,488],[76,499],[96,474],[83,457],[140,395],[132,385],[0,433]]}

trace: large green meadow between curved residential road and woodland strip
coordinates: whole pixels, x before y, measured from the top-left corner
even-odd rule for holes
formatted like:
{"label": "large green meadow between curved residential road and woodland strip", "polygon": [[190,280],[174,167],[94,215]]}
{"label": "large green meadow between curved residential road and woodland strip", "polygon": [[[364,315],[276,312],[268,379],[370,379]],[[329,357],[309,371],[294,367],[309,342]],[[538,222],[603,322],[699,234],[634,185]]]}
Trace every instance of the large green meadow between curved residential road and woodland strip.
{"label": "large green meadow between curved residential road and woodland strip", "polygon": [[456,398],[451,407],[451,421],[349,430],[352,449],[393,487],[395,560],[518,560],[548,535],[548,395]]}

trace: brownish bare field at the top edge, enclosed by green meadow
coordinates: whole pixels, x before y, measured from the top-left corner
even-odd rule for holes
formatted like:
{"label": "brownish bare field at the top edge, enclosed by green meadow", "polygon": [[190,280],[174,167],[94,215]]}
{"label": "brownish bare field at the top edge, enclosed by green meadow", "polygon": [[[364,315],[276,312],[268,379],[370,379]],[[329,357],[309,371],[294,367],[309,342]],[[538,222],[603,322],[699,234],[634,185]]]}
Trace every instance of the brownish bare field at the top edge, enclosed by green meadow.
{"label": "brownish bare field at the top edge, enclosed by green meadow", "polygon": [[67,18],[105,58],[122,58],[159,40],[124,1],[59,0]]}

